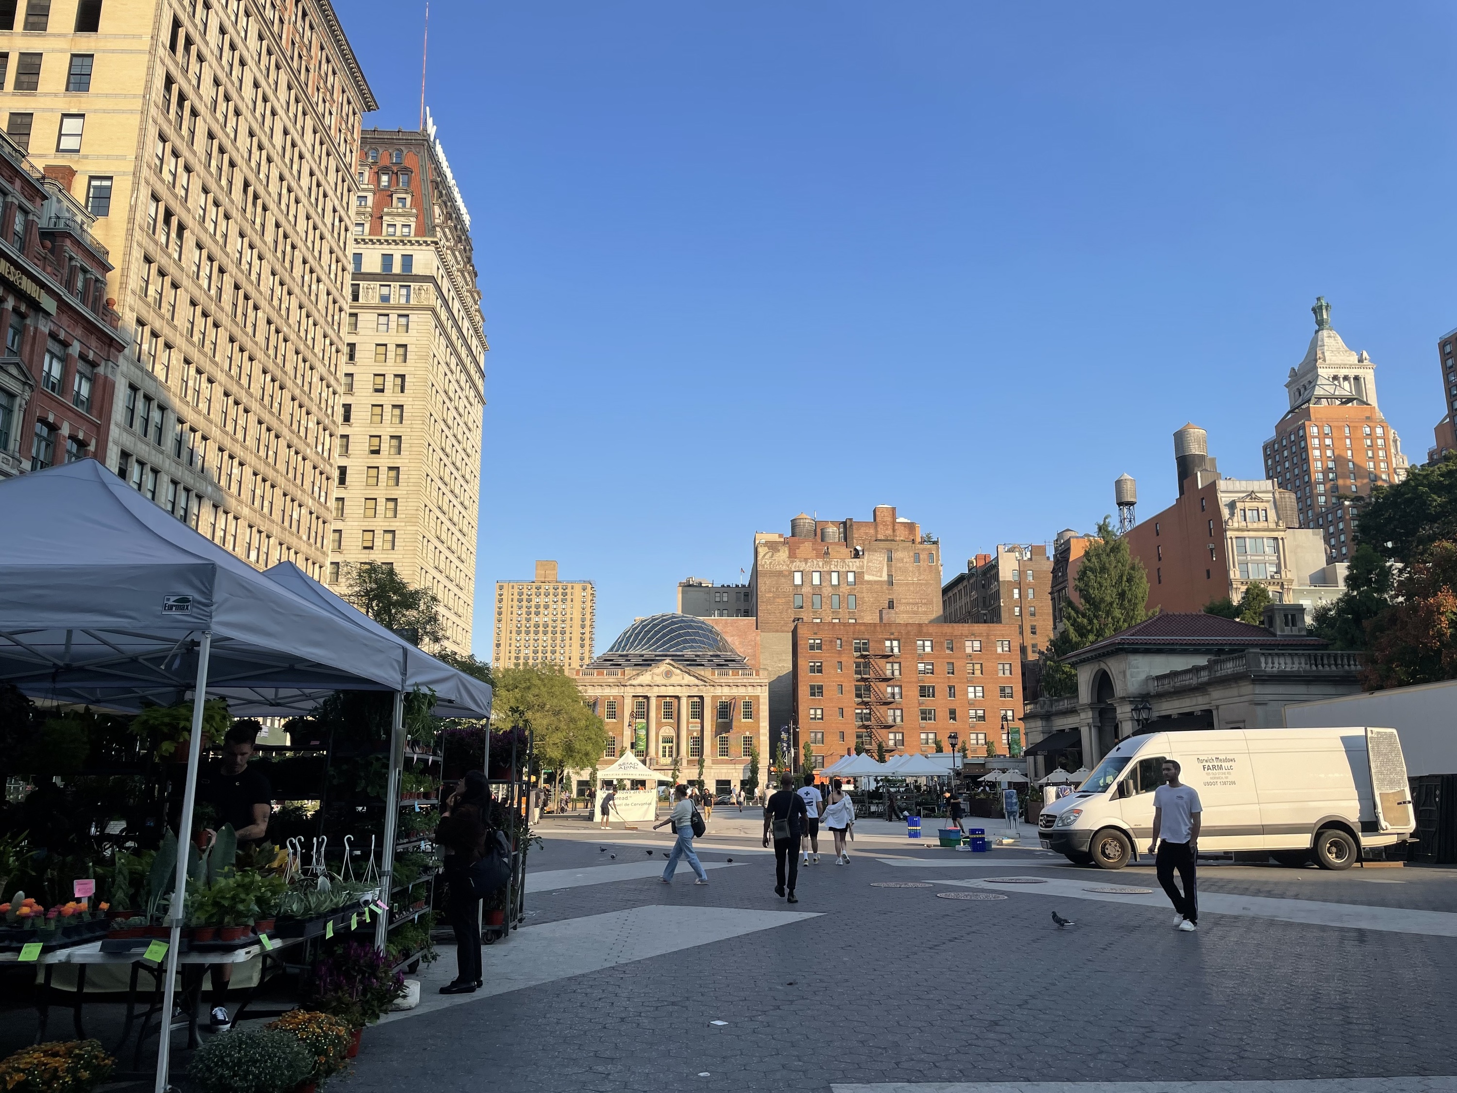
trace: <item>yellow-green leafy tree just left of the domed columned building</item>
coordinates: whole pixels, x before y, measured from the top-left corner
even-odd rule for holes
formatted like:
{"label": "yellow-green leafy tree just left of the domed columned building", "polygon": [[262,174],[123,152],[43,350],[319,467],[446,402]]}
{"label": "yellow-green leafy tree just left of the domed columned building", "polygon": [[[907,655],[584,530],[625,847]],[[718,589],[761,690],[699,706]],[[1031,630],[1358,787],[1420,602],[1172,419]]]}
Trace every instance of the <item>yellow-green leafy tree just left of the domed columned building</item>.
{"label": "yellow-green leafy tree just left of the domed columned building", "polygon": [[491,723],[533,730],[536,761],[558,772],[594,768],[608,743],[602,718],[555,665],[497,672]]}

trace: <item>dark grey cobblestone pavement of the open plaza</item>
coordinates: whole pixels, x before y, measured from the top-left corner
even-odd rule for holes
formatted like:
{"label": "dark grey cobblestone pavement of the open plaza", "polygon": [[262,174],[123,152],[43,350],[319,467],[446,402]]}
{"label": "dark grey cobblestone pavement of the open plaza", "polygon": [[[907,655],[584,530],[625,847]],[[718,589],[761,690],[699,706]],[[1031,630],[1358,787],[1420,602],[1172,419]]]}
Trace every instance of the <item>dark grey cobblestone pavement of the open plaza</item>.
{"label": "dark grey cobblestone pavement of the open plaza", "polygon": [[[532,869],[661,860],[667,845],[610,838],[548,838]],[[526,930],[571,928],[570,920],[587,930],[603,921],[596,917],[641,906],[813,917],[785,915],[753,933],[399,1017],[366,1032],[338,1092],[830,1093],[832,1084],[1454,1073],[1454,939],[1227,915],[1206,915],[1199,933],[1183,934],[1164,906],[1059,908],[1016,885],[998,892],[1005,899],[941,899],[972,890],[944,882],[989,870],[892,866],[874,853],[848,867],[822,854],[822,864],[801,870],[800,902],[788,908],[772,890],[772,858],[749,838],[737,842],[699,845],[705,860],[736,860],[712,870],[708,886],[692,885],[680,867],[670,886],[643,877],[533,893]],[[881,853],[944,860],[953,851]],[[1007,876],[1036,864],[1021,873],[1157,888],[1147,867],[1101,873],[1026,850],[994,855]],[[1402,883],[1374,883],[1391,880]],[[1208,892],[1457,911],[1457,870],[1212,866],[1201,883]],[[1077,927],[1058,930],[1050,909]],[[453,955],[441,965],[453,966]]]}

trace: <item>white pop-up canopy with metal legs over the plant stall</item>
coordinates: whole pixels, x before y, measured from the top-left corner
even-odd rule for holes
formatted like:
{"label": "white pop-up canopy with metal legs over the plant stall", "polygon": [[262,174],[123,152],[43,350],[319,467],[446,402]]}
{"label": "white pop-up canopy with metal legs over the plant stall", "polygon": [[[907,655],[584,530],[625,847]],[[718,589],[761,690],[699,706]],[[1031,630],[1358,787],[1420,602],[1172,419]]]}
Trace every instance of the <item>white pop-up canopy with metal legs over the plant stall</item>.
{"label": "white pop-up canopy with metal legs over the plant stall", "polygon": [[[203,692],[226,698],[233,716],[309,713],[334,691],[393,692],[386,823],[395,819],[404,695],[430,679],[443,683],[437,670],[453,669],[265,577],[93,459],[0,482],[0,682],[32,698],[118,711]],[[456,675],[456,708],[490,716],[490,688]],[[192,825],[201,721],[203,702],[194,702],[182,831]],[[189,839],[179,839],[176,908],[188,850]],[[386,828],[386,886],[392,851]],[[182,917],[169,925],[163,1013],[173,1006]],[[383,930],[382,917],[379,944]],[[160,1036],[157,1093],[169,1052],[170,1038]]]}

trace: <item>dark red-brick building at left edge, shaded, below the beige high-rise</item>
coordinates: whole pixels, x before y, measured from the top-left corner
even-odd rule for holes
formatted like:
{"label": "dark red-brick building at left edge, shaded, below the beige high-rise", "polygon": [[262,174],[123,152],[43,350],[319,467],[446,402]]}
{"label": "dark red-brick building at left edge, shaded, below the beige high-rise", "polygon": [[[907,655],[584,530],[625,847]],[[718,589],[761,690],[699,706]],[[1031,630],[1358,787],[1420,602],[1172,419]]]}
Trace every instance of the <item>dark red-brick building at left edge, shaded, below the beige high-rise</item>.
{"label": "dark red-brick building at left edge, shaded, below the beige high-rise", "polygon": [[0,134],[0,478],[106,455],[125,341],[67,182]]}

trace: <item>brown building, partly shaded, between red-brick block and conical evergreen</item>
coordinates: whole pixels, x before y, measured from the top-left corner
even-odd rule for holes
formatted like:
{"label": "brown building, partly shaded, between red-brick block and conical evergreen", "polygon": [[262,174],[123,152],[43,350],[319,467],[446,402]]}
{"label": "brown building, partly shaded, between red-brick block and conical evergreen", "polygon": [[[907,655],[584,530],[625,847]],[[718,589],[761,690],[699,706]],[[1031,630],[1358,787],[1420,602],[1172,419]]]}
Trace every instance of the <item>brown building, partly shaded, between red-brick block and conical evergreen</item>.
{"label": "brown building, partly shaded, between red-brick block and conical evergreen", "polygon": [[1052,635],[1050,587],[1052,560],[1043,544],[1001,544],[994,554],[967,558],[966,573],[941,589],[943,621],[1014,625],[1021,659],[1036,660]]}

